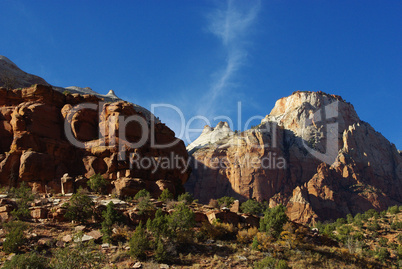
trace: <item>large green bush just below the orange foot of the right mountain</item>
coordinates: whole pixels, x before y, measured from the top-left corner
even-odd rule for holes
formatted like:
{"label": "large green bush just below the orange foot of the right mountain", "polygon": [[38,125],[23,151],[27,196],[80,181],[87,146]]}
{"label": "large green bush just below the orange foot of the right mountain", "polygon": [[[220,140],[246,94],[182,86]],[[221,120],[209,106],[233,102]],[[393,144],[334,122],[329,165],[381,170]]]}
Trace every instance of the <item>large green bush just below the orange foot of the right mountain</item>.
{"label": "large green bush just below the orange foot of the right mountain", "polygon": [[283,205],[267,209],[264,217],[260,220],[260,230],[267,232],[274,238],[278,238],[283,230],[283,225],[289,220],[285,211],[286,207]]}

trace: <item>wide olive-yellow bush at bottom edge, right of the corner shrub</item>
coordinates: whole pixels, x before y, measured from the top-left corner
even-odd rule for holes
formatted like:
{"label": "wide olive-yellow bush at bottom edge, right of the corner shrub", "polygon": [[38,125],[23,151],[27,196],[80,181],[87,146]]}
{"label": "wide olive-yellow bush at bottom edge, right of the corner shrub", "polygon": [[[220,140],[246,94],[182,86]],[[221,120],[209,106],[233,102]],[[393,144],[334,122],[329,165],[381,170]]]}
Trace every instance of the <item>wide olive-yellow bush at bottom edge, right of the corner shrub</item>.
{"label": "wide olive-yellow bush at bottom edge, right of the corner shrub", "polygon": [[103,268],[105,257],[93,241],[58,248],[50,261],[52,269]]}

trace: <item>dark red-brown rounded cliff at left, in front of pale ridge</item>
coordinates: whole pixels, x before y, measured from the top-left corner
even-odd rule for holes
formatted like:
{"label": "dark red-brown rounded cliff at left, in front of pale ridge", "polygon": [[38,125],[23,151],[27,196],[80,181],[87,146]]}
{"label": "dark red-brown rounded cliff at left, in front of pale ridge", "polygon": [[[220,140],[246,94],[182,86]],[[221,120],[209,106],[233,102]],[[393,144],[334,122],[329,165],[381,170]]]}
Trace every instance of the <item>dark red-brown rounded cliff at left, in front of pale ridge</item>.
{"label": "dark red-brown rounded cliff at left, in front of pale ridge", "polygon": [[[50,86],[0,88],[0,184],[25,181],[37,191],[59,192],[66,173],[100,173],[116,186],[135,181],[122,195],[136,186],[155,195],[178,191],[188,178],[183,141],[131,103],[101,101]],[[178,166],[168,163],[174,157],[182,160]]]}

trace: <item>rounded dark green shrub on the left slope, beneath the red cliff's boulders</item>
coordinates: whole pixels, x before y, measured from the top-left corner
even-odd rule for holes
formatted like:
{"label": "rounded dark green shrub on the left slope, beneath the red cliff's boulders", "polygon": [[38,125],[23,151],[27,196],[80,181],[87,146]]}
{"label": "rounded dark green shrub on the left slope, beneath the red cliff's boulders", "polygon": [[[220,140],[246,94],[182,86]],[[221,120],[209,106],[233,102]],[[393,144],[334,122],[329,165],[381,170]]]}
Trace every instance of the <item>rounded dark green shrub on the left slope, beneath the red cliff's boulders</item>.
{"label": "rounded dark green shrub on the left slope, beneath the red cliff's boulders", "polygon": [[71,196],[67,203],[67,211],[64,215],[69,220],[86,222],[93,215],[94,203],[84,190],[79,189]]}

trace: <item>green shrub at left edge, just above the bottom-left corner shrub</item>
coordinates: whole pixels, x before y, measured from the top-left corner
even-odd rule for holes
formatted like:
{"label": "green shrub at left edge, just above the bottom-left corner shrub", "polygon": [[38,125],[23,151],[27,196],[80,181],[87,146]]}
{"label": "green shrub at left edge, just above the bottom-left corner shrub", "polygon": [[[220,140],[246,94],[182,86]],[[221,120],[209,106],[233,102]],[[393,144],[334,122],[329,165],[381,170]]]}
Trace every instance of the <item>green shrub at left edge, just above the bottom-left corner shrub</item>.
{"label": "green shrub at left edge, just above the bottom-left corner shrub", "polygon": [[11,221],[5,223],[4,228],[8,233],[3,243],[3,250],[6,253],[15,253],[25,243],[24,231],[27,225],[21,221]]}

